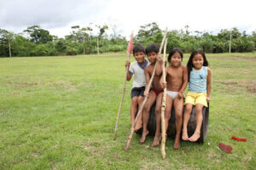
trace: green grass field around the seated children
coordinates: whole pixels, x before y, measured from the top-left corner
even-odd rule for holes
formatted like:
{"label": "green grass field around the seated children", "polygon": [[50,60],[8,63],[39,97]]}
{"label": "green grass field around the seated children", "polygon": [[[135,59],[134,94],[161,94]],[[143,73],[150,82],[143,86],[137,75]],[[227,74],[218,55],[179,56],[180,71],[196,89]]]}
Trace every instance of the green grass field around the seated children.
{"label": "green grass field around the seated children", "polygon": [[[207,54],[212,69],[207,139],[182,142],[179,150],[167,139],[166,160],[159,147],[151,147],[153,137],[139,144],[135,134],[130,150],[124,150],[131,82],[113,141],[125,59],[125,54],[0,59],[0,169],[255,169],[256,54]],[[221,142],[233,147],[230,154],[218,150]]]}

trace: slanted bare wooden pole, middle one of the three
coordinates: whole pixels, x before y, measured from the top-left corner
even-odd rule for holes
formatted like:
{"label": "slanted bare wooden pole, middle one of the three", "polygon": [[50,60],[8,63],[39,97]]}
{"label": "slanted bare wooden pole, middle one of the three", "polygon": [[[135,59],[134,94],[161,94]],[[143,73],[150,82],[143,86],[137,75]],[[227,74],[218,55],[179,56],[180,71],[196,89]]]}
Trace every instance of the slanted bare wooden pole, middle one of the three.
{"label": "slanted bare wooden pole, middle one of the three", "polygon": [[[165,39],[166,39],[166,34],[167,34],[167,28],[166,28],[165,35],[164,35],[164,37],[163,37],[163,39],[162,39],[162,42],[161,42],[159,54],[161,54],[161,51],[162,51],[162,48],[163,48],[163,45],[164,45],[164,42],[165,42]],[[151,76],[150,81],[149,81],[149,84],[148,84],[148,89],[145,89],[147,93],[149,92],[149,88],[151,87],[151,84],[152,84],[152,82],[153,82],[154,73],[155,73],[155,69],[156,69],[157,63],[158,63],[158,62],[156,62],[155,65],[154,65],[154,70],[153,70],[152,76]],[[139,116],[142,114],[143,107],[144,107],[144,105],[146,104],[147,100],[148,100],[148,96],[146,96],[146,97],[144,98],[144,100],[143,100],[143,105],[140,107],[139,111],[137,112],[137,116],[136,116],[136,118],[135,118],[135,121],[133,122],[133,124],[132,124],[132,126],[131,126],[131,131],[130,131],[130,135],[129,135],[129,137],[128,137],[128,139],[127,139],[127,142],[126,142],[126,145],[125,145],[125,150],[128,150],[128,149],[129,149],[130,142],[131,142],[131,139],[132,139],[132,136],[133,136],[133,133],[134,133],[134,128],[136,127],[138,118],[139,118]]]}

